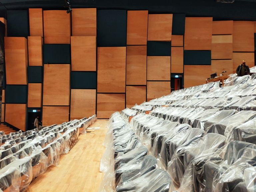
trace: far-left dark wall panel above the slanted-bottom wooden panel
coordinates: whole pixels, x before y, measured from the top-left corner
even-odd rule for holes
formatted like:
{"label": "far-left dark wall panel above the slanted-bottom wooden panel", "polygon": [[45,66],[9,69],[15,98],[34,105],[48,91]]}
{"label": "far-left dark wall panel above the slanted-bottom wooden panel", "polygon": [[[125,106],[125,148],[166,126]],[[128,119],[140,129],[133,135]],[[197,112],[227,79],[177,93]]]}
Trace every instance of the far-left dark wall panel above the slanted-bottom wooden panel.
{"label": "far-left dark wall panel above the slanted-bottom wooden panel", "polygon": [[5,103],[27,103],[27,85],[6,85]]}

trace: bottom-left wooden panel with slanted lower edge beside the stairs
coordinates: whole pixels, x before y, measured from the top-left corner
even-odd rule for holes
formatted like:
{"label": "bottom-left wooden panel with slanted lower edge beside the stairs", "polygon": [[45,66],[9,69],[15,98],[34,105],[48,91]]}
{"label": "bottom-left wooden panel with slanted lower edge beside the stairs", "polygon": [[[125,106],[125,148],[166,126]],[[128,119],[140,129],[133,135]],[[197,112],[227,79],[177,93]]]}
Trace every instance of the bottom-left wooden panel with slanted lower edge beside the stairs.
{"label": "bottom-left wooden panel with slanted lower edge beside the stairs", "polygon": [[5,104],[5,122],[26,131],[26,104]]}

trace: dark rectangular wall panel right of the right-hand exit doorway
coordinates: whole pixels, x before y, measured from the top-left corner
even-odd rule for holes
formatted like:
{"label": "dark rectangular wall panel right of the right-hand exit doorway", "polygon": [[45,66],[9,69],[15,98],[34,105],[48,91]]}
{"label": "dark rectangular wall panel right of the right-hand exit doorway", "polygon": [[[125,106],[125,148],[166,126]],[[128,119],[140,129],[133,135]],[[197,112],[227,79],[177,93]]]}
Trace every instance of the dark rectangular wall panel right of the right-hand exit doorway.
{"label": "dark rectangular wall panel right of the right-hand exit doorway", "polygon": [[184,65],[211,65],[211,51],[184,50]]}

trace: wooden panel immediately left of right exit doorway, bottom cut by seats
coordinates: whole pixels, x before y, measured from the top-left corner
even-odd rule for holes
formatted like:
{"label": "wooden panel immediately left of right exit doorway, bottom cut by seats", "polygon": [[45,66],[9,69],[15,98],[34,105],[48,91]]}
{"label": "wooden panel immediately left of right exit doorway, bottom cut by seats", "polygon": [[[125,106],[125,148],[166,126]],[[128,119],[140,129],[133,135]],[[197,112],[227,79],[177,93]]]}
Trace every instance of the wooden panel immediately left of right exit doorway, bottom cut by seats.
{"label": "wooden panel immediately left of right exit doorway, bottom cut by seats", "polygon": [[170,81],[148,81],[147,101],[169,95],[171,93]]}

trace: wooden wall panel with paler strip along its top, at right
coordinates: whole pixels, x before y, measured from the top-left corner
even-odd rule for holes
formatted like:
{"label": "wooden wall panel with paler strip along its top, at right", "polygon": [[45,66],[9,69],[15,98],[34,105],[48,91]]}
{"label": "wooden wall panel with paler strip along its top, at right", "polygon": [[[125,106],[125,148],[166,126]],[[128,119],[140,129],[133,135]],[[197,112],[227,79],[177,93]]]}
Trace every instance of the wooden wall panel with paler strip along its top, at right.
{"label": "wooden wall panel with paler strip along its top, at right", "polygon": [[212,59],[232,59],[233,57],[232,35],[212,36]]}

